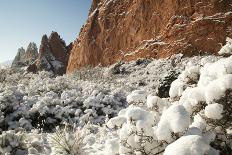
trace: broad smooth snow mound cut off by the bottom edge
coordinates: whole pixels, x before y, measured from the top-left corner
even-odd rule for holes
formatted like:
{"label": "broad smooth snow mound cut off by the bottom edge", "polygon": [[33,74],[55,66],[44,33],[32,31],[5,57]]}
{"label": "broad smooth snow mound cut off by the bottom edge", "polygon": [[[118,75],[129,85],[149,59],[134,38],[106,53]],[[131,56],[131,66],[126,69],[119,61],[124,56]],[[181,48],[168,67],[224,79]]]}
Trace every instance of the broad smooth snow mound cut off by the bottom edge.
{"label": "broad smooth snow mound cut off by the bottom edge", "polygon": [[164,155],[204,155],[210,146],[203,137],[198,135],[183,136],[168,145]]}

